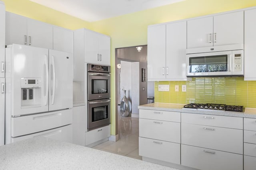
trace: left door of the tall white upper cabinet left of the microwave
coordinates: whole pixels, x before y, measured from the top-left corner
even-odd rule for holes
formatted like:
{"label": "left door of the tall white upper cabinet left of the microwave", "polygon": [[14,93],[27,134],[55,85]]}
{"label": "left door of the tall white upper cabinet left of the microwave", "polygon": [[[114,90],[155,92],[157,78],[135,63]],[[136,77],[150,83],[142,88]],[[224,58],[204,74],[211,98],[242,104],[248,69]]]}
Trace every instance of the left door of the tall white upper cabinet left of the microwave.
{"label": "left door of the tall white upper cabinet left of the microwave", "polygon": [[166,27],[148,27],[148,80],[166,78]]}

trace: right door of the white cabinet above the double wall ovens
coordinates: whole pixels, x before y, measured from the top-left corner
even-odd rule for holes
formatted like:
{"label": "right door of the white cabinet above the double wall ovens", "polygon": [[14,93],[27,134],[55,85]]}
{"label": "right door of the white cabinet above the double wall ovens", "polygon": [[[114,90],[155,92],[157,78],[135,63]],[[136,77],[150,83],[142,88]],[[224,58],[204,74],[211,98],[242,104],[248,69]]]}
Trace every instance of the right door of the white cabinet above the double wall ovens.
{"label": "right door of the white cabinet above the double wall ovens", "polygon": [[110,65],[110,37],[98,34],[100,64]]}

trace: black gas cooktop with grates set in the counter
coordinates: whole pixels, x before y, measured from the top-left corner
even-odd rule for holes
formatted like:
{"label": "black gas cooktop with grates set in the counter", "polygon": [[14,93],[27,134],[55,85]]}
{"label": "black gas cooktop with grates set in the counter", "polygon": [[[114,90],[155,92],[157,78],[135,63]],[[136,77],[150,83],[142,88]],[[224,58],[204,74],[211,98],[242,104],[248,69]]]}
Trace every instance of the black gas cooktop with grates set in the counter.
{"label": "black gas cooktop with grates set in the counter", "polygon": [[183,108],[188,109],[210,109],[210,110],[223,110],[223,111],[238,111],[243,112],[243,106],[231,106],[224,104],[187,104]]}

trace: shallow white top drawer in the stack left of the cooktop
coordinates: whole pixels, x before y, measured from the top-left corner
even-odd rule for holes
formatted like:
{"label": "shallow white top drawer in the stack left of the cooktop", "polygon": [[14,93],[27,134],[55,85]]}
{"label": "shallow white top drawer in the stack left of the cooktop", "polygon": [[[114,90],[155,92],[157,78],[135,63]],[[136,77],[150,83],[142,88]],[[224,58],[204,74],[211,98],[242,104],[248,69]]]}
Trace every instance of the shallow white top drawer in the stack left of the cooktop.
{"label": "shallow white top drawer in the stack left of the cooktop", "polygon": [[140,118],[180,122],[180,112],[140,109]]}

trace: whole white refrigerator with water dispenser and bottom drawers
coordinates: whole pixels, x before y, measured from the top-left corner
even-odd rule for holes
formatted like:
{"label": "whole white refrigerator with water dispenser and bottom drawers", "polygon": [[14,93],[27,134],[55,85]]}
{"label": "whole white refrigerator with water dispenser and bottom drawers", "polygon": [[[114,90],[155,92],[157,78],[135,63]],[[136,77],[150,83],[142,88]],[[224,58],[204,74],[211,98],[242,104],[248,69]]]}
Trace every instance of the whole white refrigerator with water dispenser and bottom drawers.
{"label": "whole white refrigerator with water dispenser and bottom drawers", "polygon": [[8,45],[5,142],[34,136],[72,142],[73,54]]}

